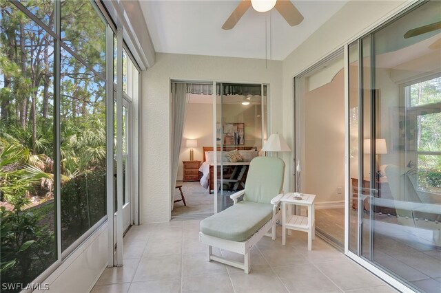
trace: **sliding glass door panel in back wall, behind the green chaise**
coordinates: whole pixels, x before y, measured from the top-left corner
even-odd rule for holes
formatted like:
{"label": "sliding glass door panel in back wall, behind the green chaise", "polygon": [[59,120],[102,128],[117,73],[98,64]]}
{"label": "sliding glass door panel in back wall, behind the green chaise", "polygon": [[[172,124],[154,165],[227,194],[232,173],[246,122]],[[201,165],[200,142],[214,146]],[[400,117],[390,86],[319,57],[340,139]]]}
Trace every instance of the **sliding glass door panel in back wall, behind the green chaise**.
{"label": "sliding glass door panel in back wall, behind the green chaise", "polygon": [[232,206],[229,195],[245,188],[249,162],[261,155],[267,138],[268,85],[218,83],[216,89],[215,213]]}

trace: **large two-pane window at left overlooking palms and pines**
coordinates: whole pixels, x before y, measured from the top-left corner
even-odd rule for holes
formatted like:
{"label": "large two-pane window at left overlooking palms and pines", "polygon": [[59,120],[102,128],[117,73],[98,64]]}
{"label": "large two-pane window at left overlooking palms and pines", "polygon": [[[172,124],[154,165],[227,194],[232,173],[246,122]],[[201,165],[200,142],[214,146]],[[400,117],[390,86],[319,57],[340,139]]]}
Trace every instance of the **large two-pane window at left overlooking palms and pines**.
{"label": "large two-pane window at left overlooking palms and pines", "polygon": [[106,215],[106,27],[93,1],[0,0],[2,290],[21,291]]}

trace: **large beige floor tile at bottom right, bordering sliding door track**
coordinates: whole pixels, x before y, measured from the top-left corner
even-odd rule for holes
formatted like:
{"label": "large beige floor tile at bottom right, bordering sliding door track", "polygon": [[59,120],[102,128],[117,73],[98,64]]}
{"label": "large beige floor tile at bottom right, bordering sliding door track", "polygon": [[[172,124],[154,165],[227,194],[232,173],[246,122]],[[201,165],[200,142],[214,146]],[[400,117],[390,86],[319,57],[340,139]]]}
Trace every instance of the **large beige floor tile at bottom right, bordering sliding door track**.
{"label": "large beige floor tile at bottom right, bordering sliding door track", "polygon": [[349,258],[315,263],[316,267],[342,290],[375,287],[385,283]]}

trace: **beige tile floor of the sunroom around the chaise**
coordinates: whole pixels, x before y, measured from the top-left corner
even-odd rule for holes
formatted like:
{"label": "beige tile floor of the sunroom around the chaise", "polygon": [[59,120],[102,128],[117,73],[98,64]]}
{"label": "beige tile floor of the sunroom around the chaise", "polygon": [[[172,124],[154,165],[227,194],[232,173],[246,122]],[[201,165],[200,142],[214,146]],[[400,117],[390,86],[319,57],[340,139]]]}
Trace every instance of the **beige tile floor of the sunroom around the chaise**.
{"label": "beige tile floor of the sunroom around the chaise", "polygon": [[[396,292],[318,237],[293,231],[282,246],[264,237],[252,250],[252,271],[205,261],[199,220],[133,226],[124,238],[124,266],[106,268],[92,292]],[[214,249],[232,259],[240,255]]]}

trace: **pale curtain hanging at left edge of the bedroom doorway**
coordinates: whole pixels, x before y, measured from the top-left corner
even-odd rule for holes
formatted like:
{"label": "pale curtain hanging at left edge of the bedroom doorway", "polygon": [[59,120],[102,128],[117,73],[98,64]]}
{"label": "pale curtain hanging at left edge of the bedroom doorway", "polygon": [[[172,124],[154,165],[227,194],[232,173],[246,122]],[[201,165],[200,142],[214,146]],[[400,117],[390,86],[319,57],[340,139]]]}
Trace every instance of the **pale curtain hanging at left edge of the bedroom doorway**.
{"label": "pale curtain hanging at left edge of the bedroom doorway", "polygon": [[190,83],[172,83],[171,111],[172,117],[172,210],[174,206],[174,190],[176,177],[178,176],[179,154],[181,153],[181,142],[187,113],[187,104],[190,98]]}

